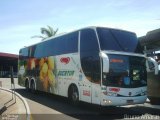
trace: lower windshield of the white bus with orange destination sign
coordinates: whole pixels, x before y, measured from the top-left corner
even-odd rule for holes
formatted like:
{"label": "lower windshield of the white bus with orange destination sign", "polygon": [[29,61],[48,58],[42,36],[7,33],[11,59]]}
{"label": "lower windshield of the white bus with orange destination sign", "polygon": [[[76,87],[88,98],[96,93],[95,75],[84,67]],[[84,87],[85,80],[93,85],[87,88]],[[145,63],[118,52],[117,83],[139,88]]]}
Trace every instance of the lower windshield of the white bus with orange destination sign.
{"label": "lower windshield of the white bus with orange destination sign", "polygon": [[108,57],[110,67],[106,79],[103,80],[104,85],[124,88],[147,85],[145,58],[111,54]]}

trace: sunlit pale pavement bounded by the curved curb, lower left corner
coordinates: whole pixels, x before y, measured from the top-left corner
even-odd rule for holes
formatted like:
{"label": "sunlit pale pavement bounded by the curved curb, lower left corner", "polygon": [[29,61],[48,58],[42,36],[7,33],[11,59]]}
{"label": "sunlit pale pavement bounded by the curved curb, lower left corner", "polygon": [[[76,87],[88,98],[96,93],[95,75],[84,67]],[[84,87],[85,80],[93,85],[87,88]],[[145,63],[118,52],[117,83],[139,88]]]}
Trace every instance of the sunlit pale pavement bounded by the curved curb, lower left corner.
{"label": "sunlit pale pavement bounded by the curved curb, lower left corner", "polygon": [[26,100],[14,90],[4,88],[3,82],[0,81],[0,120],[30,120]]}

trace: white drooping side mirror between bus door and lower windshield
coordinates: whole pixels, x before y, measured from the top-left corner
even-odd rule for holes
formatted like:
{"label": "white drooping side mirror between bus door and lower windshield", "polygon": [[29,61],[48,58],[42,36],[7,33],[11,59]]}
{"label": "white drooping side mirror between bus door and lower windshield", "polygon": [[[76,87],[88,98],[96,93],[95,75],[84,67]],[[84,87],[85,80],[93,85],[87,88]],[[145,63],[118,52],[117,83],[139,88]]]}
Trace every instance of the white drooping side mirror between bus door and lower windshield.
{"label": "white drooping side mirror between bus door and lower windshield", "polygon": [[108,73],[109,72],[109,58],[104,52],[100,52],[100,57],[103,61],[103,72]]}

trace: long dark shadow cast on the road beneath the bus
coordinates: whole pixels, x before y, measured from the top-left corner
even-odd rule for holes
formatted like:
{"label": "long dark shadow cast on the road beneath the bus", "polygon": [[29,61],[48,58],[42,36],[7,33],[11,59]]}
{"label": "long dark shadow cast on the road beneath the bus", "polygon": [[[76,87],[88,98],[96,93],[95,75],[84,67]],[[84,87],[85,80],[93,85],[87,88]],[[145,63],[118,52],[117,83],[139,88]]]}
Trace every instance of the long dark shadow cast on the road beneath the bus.
{"label": "long dark shadow cast on the road beneath the bus", "polygon": [[56,111],[74,117],[76,119],[124,119],[127,115],[142,116],[147,114],[159,115],[160,109],[133,106],[133,107],[100,107],[97,105],[80,102],[73,106],[68,99],[43,92],[30,93],[25,89],[16,89],[16,92],[32,101],[43,104]]}

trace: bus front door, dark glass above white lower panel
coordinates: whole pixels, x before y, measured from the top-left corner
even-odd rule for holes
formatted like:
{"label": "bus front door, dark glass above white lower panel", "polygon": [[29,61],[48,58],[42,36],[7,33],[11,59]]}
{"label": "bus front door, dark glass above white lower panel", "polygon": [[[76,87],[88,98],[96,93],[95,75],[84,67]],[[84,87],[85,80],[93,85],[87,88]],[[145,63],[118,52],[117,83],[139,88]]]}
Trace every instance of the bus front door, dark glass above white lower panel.
{"label": "bus front door, dark glass above white lower panel", "polygon": [[100,104],[101,67],[100,58],[91,56],[82,61],[84,79],[80,82],[81,98],[84,101]]}

